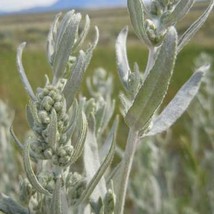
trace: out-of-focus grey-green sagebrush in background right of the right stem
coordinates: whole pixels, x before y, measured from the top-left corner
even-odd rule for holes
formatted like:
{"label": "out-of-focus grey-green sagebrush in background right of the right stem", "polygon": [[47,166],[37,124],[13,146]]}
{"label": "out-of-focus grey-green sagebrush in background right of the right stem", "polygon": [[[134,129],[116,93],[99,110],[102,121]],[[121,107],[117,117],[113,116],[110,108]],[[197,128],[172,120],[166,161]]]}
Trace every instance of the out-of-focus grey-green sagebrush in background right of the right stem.
{"label": "out-of-focus grey-green sagebrush in background right of the right stem", "polygon": [[[195,60],[195,69],[203,64],[212,64],[205,53]],[[177,145],[180,152],[170,149],[176,138],[173,130],[168,130],[166,135],[150,137],[139,146],[134,162],[137,173],[132,177],[128,191],[133,212],[214,212],[213,81],[210,68],[188,108],[191,119],[186,113],[188,120],[184,124],[188,132],[180,137],[180,145]]]}

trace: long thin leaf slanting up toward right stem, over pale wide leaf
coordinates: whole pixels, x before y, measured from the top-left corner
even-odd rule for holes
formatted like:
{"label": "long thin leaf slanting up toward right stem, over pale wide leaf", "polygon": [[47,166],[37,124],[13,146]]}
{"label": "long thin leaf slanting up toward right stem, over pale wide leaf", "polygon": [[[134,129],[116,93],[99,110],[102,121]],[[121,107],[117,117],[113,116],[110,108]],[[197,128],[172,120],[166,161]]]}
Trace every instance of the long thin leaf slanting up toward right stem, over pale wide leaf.
{"label": "long thin leaf slanting up toward right stem, over pale wide leaf", "polygon": [[116,138],[116,132],[118,127],[118,117],[115,119],[114,124],[109,132],[109,135],[107,137],[107,141],[111,141],[111,148],[108,152],[108,155],[105,157],[102,165],[100,166],[99,170],[94,175],[93,179],[89,182],[87,189],[83,192],[82,196],[80,197],[79,201],[77,202],[77,205],[80,203],[85,203],[92,192],[94,191],[96,185],[99,183],[100,179],[102,178],[103,174],[105,173],[106,169],[111,164],[113,157],[114,157],[114,151],[115,151],[115,138]]}

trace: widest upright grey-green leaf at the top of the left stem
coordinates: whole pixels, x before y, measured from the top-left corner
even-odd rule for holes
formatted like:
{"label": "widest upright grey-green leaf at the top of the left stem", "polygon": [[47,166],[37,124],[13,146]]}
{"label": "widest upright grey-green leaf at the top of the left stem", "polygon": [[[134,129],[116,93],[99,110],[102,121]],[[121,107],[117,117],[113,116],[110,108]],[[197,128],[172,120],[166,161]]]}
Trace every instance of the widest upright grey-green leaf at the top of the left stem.
{"label": "widest upright grey-green leaf at the top of the left stem", "polygon": [[65,68],[75,42],[76,33],[81,20],[79,13],[68,12],[60,23],[57,33],[57,41],[54,55],[54,79],[55,84],[64,75]]}

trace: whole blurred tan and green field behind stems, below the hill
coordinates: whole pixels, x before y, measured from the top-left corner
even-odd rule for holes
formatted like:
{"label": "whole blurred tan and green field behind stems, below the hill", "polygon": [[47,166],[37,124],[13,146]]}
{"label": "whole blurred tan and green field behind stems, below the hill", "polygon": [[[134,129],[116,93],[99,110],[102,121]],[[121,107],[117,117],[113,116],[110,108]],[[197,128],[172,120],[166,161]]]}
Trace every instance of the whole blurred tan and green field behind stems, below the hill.
{"label": "whole blurred tan and green field behind stems, below the hill", "polygon": [[[179,24],[179,33],[184,32],[187,26],[201,14],[203,7],[204,4],[201,4],[199,7],[193,8],[188,17]],[[92,74],[93,70],[97,67],[103,67],[109,73],[113,74],[115,79],[114,97],[119,103],[118,94],[120,84],[117,77],[114,44],[120,30],[125,25],[130,26],[127,10],[117,8],[81,12],[83,14],[88,13],[91,17],[92,26],[97,25],[100,29],[100,42],[86,76]],[[28,43],[23,55],[23,64],[34,89],[42,86],[44,83],[44,74],[51,75],[45,47],[49,26],[55,14],[0,17],[0,99],[8,102],[9,106],[15,110],[16,118],[14,124],[16,132],[20,136],[27,129],[24,109],[28,97],[24,92],[16,69],[16,48],[23,41]],[[176,93],[181,84],[191,75],[193,60],[199,53],[206,52],[214,57],[213,22],[214,14],[212,13],[200,32],[179,55],[167,100]],[[133,63],[137,62],[143,71],[147,60],[147,50],[144,44],[137,39],[132,28],[129,27],[129,29],[128,56],[130,65],[133,66]],[[92,35],[93,30],[89,37]],[[82,91],[84,95],[88,95],[87,89],[84,86]],[[179,127],[181,128],[182,126]],[[180,130],[179,127],[176,128],[178,132]]]}

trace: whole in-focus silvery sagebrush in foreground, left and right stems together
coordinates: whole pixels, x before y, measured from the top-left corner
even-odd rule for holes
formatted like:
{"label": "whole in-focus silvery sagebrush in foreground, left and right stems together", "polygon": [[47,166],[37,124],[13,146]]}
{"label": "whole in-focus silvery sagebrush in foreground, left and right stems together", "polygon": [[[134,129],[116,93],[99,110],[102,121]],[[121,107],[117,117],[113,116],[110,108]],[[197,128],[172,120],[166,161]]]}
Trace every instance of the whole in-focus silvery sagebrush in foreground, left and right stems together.
{"label": "whole in-focus silvery sagebrush in foreground, left and right stems together", "polygon": [[[116,41],[121,92],[121,112],[129,127],[124,154],[113,170],[110,167],[116,147],[118,116],[111,97],[112,78],[102,69],[88,80],[92,98],[78,96],[78,91],[99,38],[83,50],[90,29],[86,15],[80,32],[81,14],[57,15],[51,26],[47,55],[52,69],[43,88],[33,91],[22,65],[25,43],[18,48],[17,65],[30,100],[26,107],[33,132],[24,143],[11,128],[20,148],[27,179],[20,185],[19,201],[1,195],[4,213],[124,213],[129,175],[137,145],[146,136],[167,130],[186,110],[196,95],[201,78],[208,69],[203,65],[158,114],[167,93],[177,54],[198,31],[211,12],[214,1],[186,31],[178,36],[176,24],[190,10],[194,0],[156,0],[145,5],[142,0],[128,0],[134,30],[149,50],[146,70],[137,64],[131,71],[126,53],[128,28]],[[60,20],[61,19],[61,20]],[[115,117],[115,118],[113,118]],[[103,132],[113,120],[110,131]],[[83,167],[76,163],[82,156]],[[34,166],[33,166],[34,165]]]}

